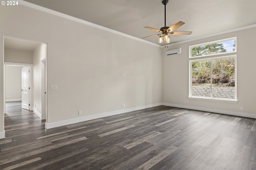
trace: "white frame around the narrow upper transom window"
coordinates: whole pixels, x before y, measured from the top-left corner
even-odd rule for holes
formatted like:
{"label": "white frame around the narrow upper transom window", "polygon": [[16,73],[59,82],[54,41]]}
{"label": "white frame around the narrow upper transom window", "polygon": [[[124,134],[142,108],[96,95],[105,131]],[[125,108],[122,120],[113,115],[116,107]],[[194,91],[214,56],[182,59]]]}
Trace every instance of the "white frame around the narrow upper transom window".
{"label": "white frame around the narrow upper transom window", "polygon": [[[202,55],[202,56],[196,56],[196,57],[192,57],[192,48],[194,47],[200,47],[202,45],[210,45],[210,44],[216,44],[216,43],[221,43],[221,42],[224,42],[224,41],[230,41],[230,40],[235,40],[235,51],[232,51],[232,52],[226,52],[226,53],[216,53],[216,54],[209,54],[209,55]],[[228,54],[228,53],[236,53],[236,49],[237,49],[237,43],[236,43],[236,37],[232,37],[232,38],[227,38],[227,39],[221,39],[221,40],[218,40],[218,41],[211,41],[211,42],[208,42],[208,43],[202,43],[202,44],[197,44],[197,45],[191,45],[189,46],[189,58],[190,59],[195,59],[195,58],[198,58],[198,57],[208,57],[208,56],[213,56],[213,55],[222,55],[222,54]]]}

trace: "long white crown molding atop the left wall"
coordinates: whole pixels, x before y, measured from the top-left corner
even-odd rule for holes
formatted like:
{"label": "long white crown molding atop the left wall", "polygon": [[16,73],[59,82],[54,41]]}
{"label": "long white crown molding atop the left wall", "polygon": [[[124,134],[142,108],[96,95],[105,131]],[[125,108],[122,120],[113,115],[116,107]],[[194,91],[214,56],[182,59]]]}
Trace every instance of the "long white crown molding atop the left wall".
{"label": "long white crown molding atop the left wall", "polygon": [[103,27],[101,25],[97,25],[95,23],[91,23],[91,22],[88,22],[88,21],[85,21],[85,20],[81,20],[79,18],[76,18],[76,17],[72,17],[72,16],[69,16],[67,14],[63,14],[61,12],[57,12],[57,11],[54,11],[54,10],[50,10],[48,8],[44,8],[42,6],[38,6],[36,4],[32,4],[30,2],[26,2],[24,0],[18,0],[18,4],[19,5],[23,5],[23,6],[26,6],[26,7],[29,7],[29,8],[33,8],[35,10],[39,10],[39,11],[42,11],[42,12],[46,12],[48,14],[52,14],[52,15],[55,15],[55,16],[59,16],[59,17],[62,17],[62,18],[66,18],[68,20],[72,20],[72,21],[76,21],[76,22],[79,22],[79,23],[82,23],[82,24],[85,24],[85,25],[89,25],[89,26],[92,26],[92,27],[95,27],[95,28],[98,28],[98,29],[102,29],[104,31],[108,31],[108,32],[111,32],[111,33],[114,33],[114,34],[117,34],[117,35],[121,35],[121,36],[124,36],[124,37],[127,37],[127,38],[130,38],[130,39],[134,39],[136,41],[140,41],[142,43],[147,43],[147,44],[150,44],[150,45],[154,45],[156,47],[161,47],[161,45],[158,45],[158,44],[155,44],[155,43],[151,43],[149,41],[146,41],[144,39],[140,39],[140,38],[137,38],[137,37],[133,37],[131,35],[128,35],[128,34],[125,34],[125,33],[121,33],[119,31],[115,31],[113,29],[110,29],[110,28],[107,28],[107,27]]}

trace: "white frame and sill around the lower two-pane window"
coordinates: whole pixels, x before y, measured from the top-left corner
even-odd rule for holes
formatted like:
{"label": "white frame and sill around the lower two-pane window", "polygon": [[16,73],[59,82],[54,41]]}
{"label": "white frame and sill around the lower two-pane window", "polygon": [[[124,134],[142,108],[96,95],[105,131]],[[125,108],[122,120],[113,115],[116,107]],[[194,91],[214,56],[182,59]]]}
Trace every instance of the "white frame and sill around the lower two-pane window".
{"label": "white frame and sill around the lower two-pane window", "polygon": [[[224,59],[224,58],[235,58],[235,98],[234,99],[228,99],[228,98],[211,98],[211,97],[203,97],[203,96],[192,96],[192,62],[196,61],[208,61],[208,60],[215,60],[215,59]],[[236,55],[228,55],[223,57],[210,57],[206,59],[195,59],[189,61],[189,99],[196,99],[196,100],[211,100],[211,101],[218,101],[218,102],[231,102],[236,103],[237,100],[237,56]],[[212,63],[212,62],[211,62]],[[212,72],[212,67],[211,67]],[[212,82],[212,81],[211,81]],[[212,85],[211,85],[212,86]],[[212,89],[212,87],[211,87]],[[212,93],[212,92],[211,92]],[[212,95],[212,94],[211,94]]]}

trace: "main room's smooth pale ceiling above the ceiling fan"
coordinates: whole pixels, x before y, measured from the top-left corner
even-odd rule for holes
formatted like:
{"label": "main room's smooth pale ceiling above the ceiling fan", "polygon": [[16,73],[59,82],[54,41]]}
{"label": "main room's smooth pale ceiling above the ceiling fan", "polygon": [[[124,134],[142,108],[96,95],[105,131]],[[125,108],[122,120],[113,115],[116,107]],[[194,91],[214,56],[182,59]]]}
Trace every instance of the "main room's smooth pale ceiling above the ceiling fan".
{"label": "main room's smooth pale ceiling above the ceiling fan", "polygon": [[[162,0],[25,0],[134,37],[158,34],[144,27],[164,27]],[[185,22],[170,35],[171,43],[256,24],[256,0],[169,0],[166,26]],[[146,38],[158,43],[158,37]]]}

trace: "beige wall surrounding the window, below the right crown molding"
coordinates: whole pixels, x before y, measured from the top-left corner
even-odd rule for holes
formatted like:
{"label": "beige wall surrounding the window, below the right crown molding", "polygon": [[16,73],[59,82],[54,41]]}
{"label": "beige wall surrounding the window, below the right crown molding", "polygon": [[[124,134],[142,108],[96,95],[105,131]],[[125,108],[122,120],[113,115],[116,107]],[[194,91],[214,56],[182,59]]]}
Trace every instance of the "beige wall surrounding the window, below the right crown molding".
{"label": "beige wall surrounding the window, below the right crown molding", "polygon": [[[182,47],[180,55],[165,55],[165,49],[162,49],[162,95],[163,103],[170,106],[180,106],[197,109],[210,109],[213,111],[221,110],[222,113],[232,113],[242,116],[256,115],[255,105],[255,39],[256,27],[208,37],[188,43],[168,46],[168,49]],[[189,90],[189,58],[188,51],[190,45],[216,41],[237,37],[237,103],[215,102],[188,99]],[[225,56],[225,55],[224,55]],[[243,106],[243,110],[240,107]],[[214,110],[216,109],[216,110]],[[249,114],[248,114],[249,113]]]}

